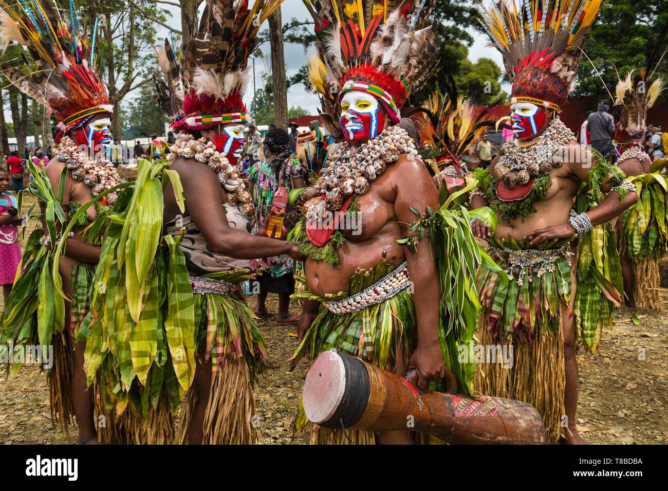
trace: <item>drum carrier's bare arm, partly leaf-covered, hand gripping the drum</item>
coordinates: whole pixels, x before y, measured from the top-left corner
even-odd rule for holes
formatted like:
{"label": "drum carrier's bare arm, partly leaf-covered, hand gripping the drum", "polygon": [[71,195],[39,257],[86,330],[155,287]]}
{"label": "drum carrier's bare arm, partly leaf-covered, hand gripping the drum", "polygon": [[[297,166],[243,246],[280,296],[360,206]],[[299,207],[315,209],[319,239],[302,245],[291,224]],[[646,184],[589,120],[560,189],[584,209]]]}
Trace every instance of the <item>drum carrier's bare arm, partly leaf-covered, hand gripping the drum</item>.
{"label": "drum carrier's bare arm, partly leaf-covered, hand gripping the drum", "polygon": [[[394,212],[399,222],[410,223],[416,217],[410,206],[424,213],[427,206],[438,208],[438,192],[424,164],[419,160],[401,158],[393,171],[396,186]],[[410,180],[404,176],[411,176]],[[413,302],[418,318],[418,347],[406,367],[418,369],[418,386],[438,377],[444,377],[443,354],[438,343],[438,316],[440,286],[436,276],[434,253],[428,238],[418,243],[415,253],[404,247],[408,273],[413,285]]]}

